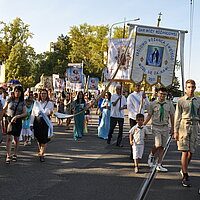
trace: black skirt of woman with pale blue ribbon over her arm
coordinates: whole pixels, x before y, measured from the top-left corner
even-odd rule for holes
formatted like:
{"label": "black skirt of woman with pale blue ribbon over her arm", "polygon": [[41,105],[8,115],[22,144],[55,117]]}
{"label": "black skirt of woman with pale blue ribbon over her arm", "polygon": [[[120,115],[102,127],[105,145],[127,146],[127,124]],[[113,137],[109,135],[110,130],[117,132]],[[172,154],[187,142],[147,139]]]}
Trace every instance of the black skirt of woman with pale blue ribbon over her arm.
{"label": "black skirt of woman with pale blue ribbon over her arm", "polygon": [[48,138],[48,125],[42,117],[35,117],[33,122],[34,136],[39,144],[46,144],[50,141]]}

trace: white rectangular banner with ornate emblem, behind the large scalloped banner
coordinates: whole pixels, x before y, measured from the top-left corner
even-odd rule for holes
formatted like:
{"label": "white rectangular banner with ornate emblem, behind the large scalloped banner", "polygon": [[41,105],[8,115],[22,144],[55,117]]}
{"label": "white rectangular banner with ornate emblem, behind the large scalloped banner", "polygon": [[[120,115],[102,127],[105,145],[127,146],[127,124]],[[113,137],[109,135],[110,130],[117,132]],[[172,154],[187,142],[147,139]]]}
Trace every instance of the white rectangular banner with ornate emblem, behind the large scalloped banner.
{"label": "white rectangular banner with ornate emblem, behind the large scalloped banner", "polygon": [[127,52],[125,54],[129,39],[111,39],[108,47],[108,73],[107,76],[113,79],[113,75],[120,68],[114,77],[114,80],[129,81],[131,75],[131,66],[133,61],[134,39],[131,39]]}

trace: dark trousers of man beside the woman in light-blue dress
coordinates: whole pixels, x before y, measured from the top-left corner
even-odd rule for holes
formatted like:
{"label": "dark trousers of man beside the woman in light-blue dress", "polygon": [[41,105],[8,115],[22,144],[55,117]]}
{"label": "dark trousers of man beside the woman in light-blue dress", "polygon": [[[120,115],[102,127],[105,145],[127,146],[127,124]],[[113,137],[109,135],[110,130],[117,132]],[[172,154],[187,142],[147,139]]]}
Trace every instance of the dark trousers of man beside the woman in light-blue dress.
{"label": "dark trousers of man beside the woman in light-blue dress", "polygon": [[119,133],[117,137],[117,145],[120,145],[123,136],[124,118],[110,117],[110,131],[108,133],[108,140],[111,140],[114,129],[119,124]]}

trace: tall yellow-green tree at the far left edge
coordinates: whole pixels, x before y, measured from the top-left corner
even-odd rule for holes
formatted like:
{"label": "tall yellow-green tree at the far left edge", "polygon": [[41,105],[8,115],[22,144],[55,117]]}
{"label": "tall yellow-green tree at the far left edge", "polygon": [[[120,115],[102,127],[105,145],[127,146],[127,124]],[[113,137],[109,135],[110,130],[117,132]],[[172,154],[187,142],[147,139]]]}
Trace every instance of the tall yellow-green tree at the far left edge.
{"label": "tall yellow-green tree at the far left edge", "polygon": [[28,39],[33,36],[29,25],[20,18],[8,24],[1,22],[1,25],[0,56],[5,62],[6,81],[18,79],[24,87],[32,86],[35,52],[28,44]]}

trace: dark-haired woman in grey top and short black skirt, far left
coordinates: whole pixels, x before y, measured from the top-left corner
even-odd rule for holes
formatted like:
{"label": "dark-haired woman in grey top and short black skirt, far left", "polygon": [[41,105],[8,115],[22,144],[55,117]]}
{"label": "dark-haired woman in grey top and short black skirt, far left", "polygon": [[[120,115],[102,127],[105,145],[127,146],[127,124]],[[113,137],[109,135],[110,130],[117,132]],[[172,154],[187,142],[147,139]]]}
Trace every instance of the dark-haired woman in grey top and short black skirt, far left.
{"label": "dark-haired woman in grey top and short black skirt, far left", "polygon": [[[22,129],[22,118],[26,116],[26,103],[24,92],[21,86],[14,88],[14,95],[6,100],[3,113],[7,111],[7,135],[6,135],[6,164],[17,161],[19,148],[19,136]],[[14,136],[14,153],[11,157],[12,136]]]}

